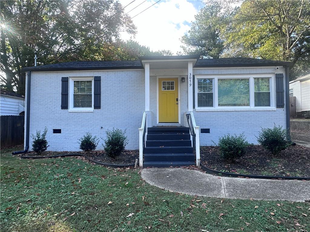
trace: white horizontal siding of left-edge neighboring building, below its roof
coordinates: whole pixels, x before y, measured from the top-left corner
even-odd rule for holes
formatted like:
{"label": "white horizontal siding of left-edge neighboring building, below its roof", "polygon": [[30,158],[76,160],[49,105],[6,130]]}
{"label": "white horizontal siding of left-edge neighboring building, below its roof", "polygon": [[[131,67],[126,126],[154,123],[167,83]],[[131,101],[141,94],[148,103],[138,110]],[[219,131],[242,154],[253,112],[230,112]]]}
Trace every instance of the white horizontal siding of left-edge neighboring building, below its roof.
{"label": "white horizontal siding of left-edge neighboring building, below its roof", "polygon": [[1,94],[0,115],[19,115],[24,111],[24,98]]}

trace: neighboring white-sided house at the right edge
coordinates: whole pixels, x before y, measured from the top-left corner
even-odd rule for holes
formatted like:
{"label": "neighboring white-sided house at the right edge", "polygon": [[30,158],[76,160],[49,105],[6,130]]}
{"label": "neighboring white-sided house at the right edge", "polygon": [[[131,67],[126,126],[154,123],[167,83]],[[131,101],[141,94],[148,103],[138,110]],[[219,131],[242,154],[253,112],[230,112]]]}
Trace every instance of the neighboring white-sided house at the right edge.
{"label": "neighboring white-sided house at the right edge", "polygon": [[296,97],[296,112],[310,110],[310,74],[290,81],[290,96]]}

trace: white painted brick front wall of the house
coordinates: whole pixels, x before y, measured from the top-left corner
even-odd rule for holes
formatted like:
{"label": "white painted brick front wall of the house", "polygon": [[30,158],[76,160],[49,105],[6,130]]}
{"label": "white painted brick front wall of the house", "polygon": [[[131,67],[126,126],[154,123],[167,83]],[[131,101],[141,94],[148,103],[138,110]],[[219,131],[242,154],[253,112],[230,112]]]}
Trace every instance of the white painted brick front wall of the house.
{"label": "white painted brick front wall of the house", "polygon": [[[242,69],[194,69],[197,74],[236,73],[284,73],[284,68],[242,68]],[[61,110],[61,77],[101,76],[101,109],[94,112],[68,112]],[[187,78],[185,78],[187,80]],[[156,76],[150,77],[150,111],[148,126],[157,125]],[[285,80],[284,80],[285,84]],[[180,83],[181,125],[187,126],[187,83]],[[276,88],[276,85],[274,84]],[[275,89],[274,89],[275,91]],[[27,92],[27,81],[26,81]],[[86,132],[105,138],[107,129],[127,129],[129,139],[127,149],[139,148],[139,131],[144,105],[144,70],[141,71],[71,71],[32,72],[30,101],[30,135],[36,130],[48,129],[47,140],[53,151],[78,151],[78,138]],[[286,95],[284,94],[286,97]],[[27,102],[27,97],[25,103]],[[285,101],[286,102],[286,101]],[[286,104],[285,104],[286,106]],[[26,109],[25,105],[25,109]],[[196,112],[197,125],[210,128],[210,134],[200,134],[201,145],[213,145],[219,136],[244,132],[248,142],[257,143],[256,137],[261,127],[281,125],[286,127],[286,108],[276,111],[208,111]],[[26,122],[26,112],[25,112]],[[101,129],[101,127],[103,127]],[[25,124],[26,128],[26,124]],[[52,134],[53,129],[61,129],[61,134]],[[25,130],[26,133],[26,130]],[[26,137],[26,135],[25,135]],[[31,149],[32,138],[29,138]],[[97,149],[103,149],[103,140]]]}

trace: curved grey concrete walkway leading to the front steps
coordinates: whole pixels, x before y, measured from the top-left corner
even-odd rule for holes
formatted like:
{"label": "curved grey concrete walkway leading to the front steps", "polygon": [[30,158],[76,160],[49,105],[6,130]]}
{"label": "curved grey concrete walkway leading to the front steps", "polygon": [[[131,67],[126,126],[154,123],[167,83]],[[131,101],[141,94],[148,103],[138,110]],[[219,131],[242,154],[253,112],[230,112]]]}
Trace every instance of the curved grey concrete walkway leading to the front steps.
{"label": "curved grey concrete walkway leading to the front steps", "polygon": [[173,192],[217,198],[310,200],[310,181],[219,177],[183,168],[143,169],[149,184]]}

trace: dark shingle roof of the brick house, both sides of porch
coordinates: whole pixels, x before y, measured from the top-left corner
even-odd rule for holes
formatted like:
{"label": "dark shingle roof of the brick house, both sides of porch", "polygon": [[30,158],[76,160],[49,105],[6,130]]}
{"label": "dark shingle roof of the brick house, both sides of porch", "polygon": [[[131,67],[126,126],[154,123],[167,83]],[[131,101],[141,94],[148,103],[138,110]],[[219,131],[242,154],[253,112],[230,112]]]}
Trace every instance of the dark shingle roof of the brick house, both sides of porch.
{"label": "dark shingle roof of the brick house, both sides of porch", "polygon": [[[173,56],[177,58],[177,56]],[[183,56],[182,56],[183,57]],[[143,57],[141,57],[143,58]],[[47,64],[37,67],[26,67],[23,71],[68,71],[68,70],[95,70],[95,69],[139,69],[143,68],[140,60],[123,61],[73,61],[58,64]],[[146,57],[147,58],[147,57]],[[160,57],[158,57],[160,58]],[[263,60],[254,58],[219,58],[197,59],[194,67],[242,67],[242,66],[274,66],[291,65],[290,62]]]}

